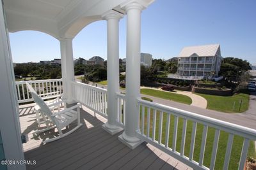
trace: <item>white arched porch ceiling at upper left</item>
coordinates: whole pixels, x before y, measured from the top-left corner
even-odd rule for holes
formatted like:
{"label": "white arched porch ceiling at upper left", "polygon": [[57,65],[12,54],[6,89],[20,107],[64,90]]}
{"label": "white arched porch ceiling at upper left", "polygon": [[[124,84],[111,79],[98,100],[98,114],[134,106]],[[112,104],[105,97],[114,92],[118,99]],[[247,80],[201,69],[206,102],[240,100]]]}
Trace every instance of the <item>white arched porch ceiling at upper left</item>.
{"label": "white arched porch ceiling at upper left", "polygon": [[127,0],[4,0],[10,32],[34,30],[74,38],[86,25]]}

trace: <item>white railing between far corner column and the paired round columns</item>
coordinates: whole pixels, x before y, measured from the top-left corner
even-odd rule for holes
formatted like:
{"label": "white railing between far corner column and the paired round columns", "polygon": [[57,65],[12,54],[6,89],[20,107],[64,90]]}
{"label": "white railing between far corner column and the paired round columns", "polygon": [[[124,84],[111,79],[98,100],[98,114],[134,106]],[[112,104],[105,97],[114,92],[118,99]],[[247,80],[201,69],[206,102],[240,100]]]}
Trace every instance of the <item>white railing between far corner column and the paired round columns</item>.
{"label": "white railing between far corner column and the paired round columns", "polygon": [[72,85],[72,97],[90,110],[107,118],[107,90],[87,85],[80,82],[70,81]]}

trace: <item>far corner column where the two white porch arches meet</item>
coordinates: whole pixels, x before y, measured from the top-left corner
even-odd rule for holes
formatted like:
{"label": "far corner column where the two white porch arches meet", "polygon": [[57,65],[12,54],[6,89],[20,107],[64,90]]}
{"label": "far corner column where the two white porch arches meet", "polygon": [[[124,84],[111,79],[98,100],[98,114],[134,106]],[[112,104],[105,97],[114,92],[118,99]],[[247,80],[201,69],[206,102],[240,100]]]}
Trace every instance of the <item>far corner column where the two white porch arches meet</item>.
{"label": "far corner column where the two white porch arches meet", "polygon": [[72,86],[70,81],[75,81],[74,76],[74,59],[72,49],[72,39],[59,38],[61,52],[61,74],[63,81],[63,100],[67,104],[72,104]]}

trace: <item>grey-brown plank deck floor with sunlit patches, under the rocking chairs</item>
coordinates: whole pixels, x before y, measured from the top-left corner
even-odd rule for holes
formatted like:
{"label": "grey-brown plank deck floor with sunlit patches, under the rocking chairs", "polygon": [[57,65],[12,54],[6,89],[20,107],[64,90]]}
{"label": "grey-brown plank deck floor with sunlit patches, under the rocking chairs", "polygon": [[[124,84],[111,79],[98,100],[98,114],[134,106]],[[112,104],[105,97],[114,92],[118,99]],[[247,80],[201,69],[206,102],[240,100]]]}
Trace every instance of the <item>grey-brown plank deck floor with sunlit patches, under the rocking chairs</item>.
{"label": "grey-brown plank deck floor with sunlit patches, under the rocking chairs", "polygon": [[81,109],[81,122],[83,126],[77,131],[43,145],[42,139],[58,133],[53,130],[33,136],[38,129],[33,106],[20,106],[20,128],[29,136],[28,143],[23,145],[25,159],[36,160],[27,169],[191,169],[147,143],[131,150],[118,141],[122,132],[108,134],[101,127],[106,119],[93,117],[87,108]]}

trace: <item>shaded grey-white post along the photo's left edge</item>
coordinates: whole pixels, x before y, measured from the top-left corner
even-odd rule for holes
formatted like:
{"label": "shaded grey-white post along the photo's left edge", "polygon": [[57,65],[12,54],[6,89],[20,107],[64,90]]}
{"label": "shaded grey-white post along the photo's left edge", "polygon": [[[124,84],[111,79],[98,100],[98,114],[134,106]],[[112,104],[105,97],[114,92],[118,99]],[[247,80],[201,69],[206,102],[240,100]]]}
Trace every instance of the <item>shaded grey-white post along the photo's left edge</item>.
{"label": "shaded grey-white post along the photo's left edge", "polygon": [[[0,132],[6,160],[24,160],[21,143],[17,91],[10,52],[10,41],[2,3],[0,3]],[[4,166],[0,165],[0,169]],[[26,169],[26,166],[8,164],[7,169]]]}

